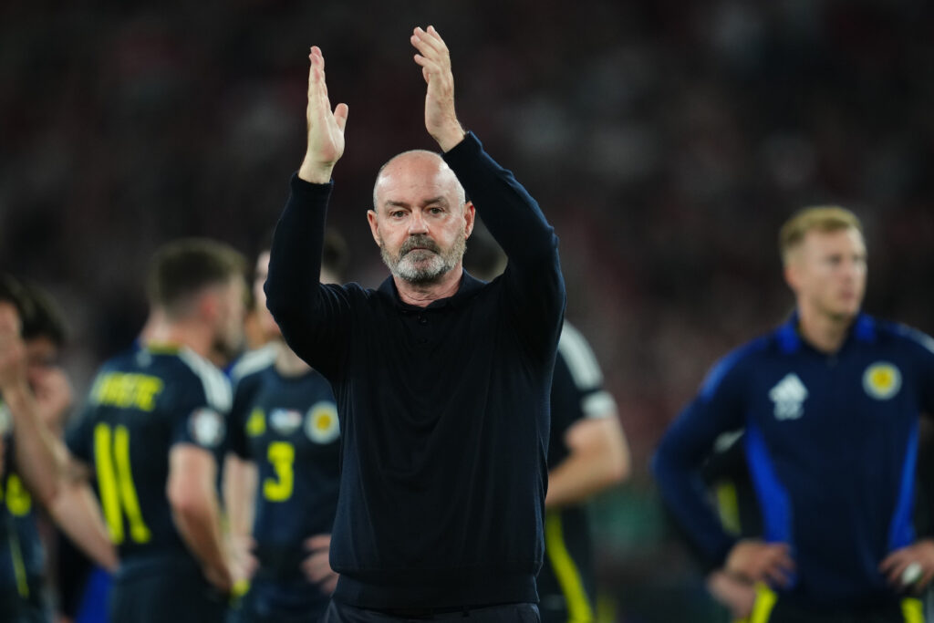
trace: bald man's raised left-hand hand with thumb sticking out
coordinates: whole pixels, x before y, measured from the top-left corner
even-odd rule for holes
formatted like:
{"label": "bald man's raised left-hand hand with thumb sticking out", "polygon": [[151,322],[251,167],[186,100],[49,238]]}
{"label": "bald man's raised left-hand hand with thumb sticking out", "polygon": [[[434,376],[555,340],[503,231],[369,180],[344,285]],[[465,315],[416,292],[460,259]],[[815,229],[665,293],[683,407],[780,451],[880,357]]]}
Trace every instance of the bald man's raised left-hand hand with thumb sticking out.
{"label": "bald man's raised left-hand hand with thumb sticking out", "polygon": [[334,164],[344,155],[344,128],[347,104],[338,104],[333,112],[324,79],[324,56],[318,46],[308,54],[308,149],[298,177],[316,184],[331,180]]}

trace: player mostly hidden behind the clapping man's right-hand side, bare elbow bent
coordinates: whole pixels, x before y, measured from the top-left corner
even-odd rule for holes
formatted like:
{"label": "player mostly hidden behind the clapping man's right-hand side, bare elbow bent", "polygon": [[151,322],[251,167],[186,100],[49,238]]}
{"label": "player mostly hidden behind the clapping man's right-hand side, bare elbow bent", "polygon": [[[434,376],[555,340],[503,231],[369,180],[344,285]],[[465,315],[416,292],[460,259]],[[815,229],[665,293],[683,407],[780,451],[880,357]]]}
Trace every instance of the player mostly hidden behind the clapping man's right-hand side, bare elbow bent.
{"label": "player mostly hidden behind the clapping man's right-hand side, bare elbow bent", "polygon": [[[506,256],[486,228],[474,227],[464,269],[492,281]],[[630,474],[630,450],[616,400],[584,336],[567,320],[551,385],[545,564],[538,574],[543,623],[594,620],[597,586],[586,503]]]}

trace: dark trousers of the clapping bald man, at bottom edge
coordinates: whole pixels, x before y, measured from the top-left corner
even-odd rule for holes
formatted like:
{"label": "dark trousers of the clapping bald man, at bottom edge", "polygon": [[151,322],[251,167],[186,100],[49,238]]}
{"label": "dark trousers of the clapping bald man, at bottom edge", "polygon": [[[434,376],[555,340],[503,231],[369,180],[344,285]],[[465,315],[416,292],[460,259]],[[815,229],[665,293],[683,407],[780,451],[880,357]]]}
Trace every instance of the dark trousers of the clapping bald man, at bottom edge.
{"label": "dark trousers of the clapping bald man, at bottom edge", "polygon": [[467,607],[454,612],[429,610],[395,611],[366,610],[346,603],[328,604],[321,623],[388,623],[389,621],[460,621],[472,623],[539,623],[538,606],[534,603],[507,603],[482,608]]}

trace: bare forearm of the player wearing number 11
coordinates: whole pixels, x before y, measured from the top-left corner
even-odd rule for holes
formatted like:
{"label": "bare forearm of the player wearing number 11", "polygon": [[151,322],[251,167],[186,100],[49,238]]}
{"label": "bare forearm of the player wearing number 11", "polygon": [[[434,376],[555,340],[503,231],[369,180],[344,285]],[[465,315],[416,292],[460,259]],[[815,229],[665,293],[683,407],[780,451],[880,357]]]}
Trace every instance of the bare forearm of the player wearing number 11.
{"label": "bare forearm of the player wearing number 11", "polygon": [[207,580],[227,593],[233,588],[233,571],[220,527],[217,476],[211,451],[185,443],[169,450],[166,495],[178,533],[201,562]]}

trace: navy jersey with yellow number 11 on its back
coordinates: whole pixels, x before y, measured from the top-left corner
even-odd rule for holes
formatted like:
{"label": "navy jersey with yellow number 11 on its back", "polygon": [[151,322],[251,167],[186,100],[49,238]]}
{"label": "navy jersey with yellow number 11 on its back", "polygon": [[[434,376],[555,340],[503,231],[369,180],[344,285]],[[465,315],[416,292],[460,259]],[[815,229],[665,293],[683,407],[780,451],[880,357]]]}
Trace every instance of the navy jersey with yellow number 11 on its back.
{"label": "navy jersey with yellow number 11 on its back", "polygon": [[186,552],[166,497],[169,450],[204,448],[220,459],[230,383],[186,347],[144,347],[107,361],[66,443],[93,466],[121,562]]}

